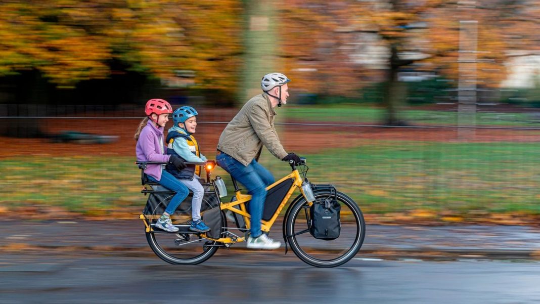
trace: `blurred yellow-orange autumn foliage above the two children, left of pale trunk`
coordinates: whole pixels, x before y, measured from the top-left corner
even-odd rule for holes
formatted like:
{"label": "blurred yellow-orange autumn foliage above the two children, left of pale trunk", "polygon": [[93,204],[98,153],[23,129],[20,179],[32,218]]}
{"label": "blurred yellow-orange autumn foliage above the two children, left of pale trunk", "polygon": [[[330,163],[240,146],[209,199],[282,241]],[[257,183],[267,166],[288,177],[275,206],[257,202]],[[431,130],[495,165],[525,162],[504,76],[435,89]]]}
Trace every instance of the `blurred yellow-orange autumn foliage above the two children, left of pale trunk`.
{"label": "blurred yellow-orange autumn foliage above the two children, left of pale trunk", "polygon": [[0,1],[0,76],[37,69],[73,87],[109,77],[118,60],[166,85],[231,90],[239,15],[234,0]]}

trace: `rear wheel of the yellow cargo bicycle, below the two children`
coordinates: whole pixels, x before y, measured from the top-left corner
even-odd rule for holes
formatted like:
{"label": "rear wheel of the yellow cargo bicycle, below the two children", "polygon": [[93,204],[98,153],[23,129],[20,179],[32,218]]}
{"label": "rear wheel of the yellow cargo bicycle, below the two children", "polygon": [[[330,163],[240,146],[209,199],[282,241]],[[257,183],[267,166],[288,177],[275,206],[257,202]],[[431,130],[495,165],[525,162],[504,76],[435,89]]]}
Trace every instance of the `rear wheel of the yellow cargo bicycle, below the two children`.
{"label": "rear wheel of the yellow cargo bicycle, below the two children", "polygon": [[[153,227],[157,219],[165,210],[166,204],[164,201],[170,200],[172,195],[159,201],[158,205],[152,208],[145,209],[145,216],[149,224]],[[215,195],[214,195],[215,197]],[[191,220],[191,195],[180,204],[177,211],[171,216],[173,225],[180,228],[177,233],[168,233],[159,228],[154,228],[151,232],[146,232],[146,240],[152,248],[152,251],[159,256],[160,259],[170,264],[195,265],[200,264],[212,257],[218,251],[219,243],[201,237],[199,233],[194,233],[188,230]],[[182,206],[184,205],[184,206]],[[212,200],[203,199],[201,212],[210,210],[219,206],[219,203]],[[221,217],[221,226],[226,227],[225,217]]]}

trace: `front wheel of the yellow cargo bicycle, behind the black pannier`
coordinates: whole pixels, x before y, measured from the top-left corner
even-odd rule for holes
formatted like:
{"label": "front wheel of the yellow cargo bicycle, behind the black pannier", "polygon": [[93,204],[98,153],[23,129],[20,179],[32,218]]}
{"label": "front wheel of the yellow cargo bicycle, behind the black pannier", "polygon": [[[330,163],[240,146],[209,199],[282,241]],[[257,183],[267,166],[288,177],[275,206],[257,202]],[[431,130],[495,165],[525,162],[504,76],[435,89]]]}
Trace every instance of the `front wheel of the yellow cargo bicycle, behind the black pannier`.
{"label": "front wheel of the yellow cargo bicycle, behind the black pannier", "polygon": [[[329,195],[329,191],[315,192],[315,200],[323,201]],[[311,218],[306,199],[297,201],[288,213],[285,228],[287,241],[296,256],[309,265],[316,267],[343,265],[352,259],[362,246],[366,231],[362,211],[346,194],[338,192],[336,200],[341,205],[341,233],[339,238],[334,240],[315,239],[309,233]]]}

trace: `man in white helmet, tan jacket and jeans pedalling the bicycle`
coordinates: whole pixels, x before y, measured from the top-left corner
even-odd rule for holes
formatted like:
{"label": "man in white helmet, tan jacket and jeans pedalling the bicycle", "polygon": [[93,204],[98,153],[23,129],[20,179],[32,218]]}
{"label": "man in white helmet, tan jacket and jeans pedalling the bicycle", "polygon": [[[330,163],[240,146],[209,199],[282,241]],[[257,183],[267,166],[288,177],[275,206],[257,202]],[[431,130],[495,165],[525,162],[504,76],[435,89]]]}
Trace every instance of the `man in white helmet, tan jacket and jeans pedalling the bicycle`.
{"label": "man in white helmet, tan jacket and jeans pedalling the bicycle", "polygon": [[281,242],[268,238],[261,231],[266,187],[274,183],[274,177],[257,160],[262,146],[265,146],[281,160],[300,163],[298,155],[285,151],[274,127],[274,107],[287,104],[287,83],[290,81],[281,73],[269,73],[262,77],[263,93],[249,99],[219,137],[216,156],[218,165],[244,185],[252,195],[248,205],[251,215],[248,248],[276,249],[281,246]]}

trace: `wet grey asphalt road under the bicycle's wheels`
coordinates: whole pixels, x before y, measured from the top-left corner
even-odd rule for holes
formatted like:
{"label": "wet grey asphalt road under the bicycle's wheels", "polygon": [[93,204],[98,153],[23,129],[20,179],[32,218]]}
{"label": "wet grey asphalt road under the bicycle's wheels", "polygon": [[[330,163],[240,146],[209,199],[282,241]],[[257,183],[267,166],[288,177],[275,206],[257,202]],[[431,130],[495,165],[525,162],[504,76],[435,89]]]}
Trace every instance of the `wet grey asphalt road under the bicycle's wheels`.
{"label": "wet grey asphalt road under the bicycle's wheels", "polygon": [[357,258],[315,268],[294,254],[218,251],[197,266],[156,256],[0,255],[0,303],[540,303],[535,261]]}

